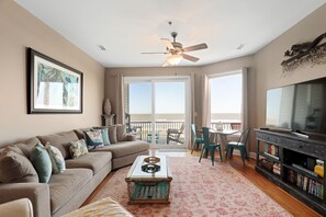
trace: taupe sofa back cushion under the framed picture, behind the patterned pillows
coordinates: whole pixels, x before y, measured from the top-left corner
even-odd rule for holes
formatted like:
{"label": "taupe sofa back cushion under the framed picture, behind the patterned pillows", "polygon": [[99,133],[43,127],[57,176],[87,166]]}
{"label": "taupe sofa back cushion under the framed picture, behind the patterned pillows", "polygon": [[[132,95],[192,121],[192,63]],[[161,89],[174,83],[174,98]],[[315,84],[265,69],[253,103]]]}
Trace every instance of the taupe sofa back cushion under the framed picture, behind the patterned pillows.
{"label": "taupe sofa back cushion under the framed picture, behind the patterned pillows", "polygon": [[66,132],[61,134],[54,134],[47,136],[38,136],[37,137],[42,144],[49,142],[52,146],[57,147],[65,159],[70,158],[69,147],[70,141],[77,141],[78,137],[75,132]]}

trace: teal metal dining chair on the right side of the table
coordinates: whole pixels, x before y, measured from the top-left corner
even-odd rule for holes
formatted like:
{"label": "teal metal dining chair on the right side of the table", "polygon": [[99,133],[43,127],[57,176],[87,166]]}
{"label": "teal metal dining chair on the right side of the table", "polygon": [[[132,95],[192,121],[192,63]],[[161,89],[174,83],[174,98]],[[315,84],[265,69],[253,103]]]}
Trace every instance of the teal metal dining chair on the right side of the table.
{"label": "teal metal dining chair on the right side of the table", "polygon": [[241,159],[245,165],[245,158],[248,158],[247,155],[247,150],[246,150],[246,145],[248,142],[248,138],[249,138],[249,133],[250,133],[250,128],[247,128],[246,130],[244,130],[240,135],[240,138],[238,139],[238,141],[229,141],[226,146],[226,158],[229,153],[229,157],[233,157],[233,150],[234,149],[238,149],[240,151],[241,155]]}

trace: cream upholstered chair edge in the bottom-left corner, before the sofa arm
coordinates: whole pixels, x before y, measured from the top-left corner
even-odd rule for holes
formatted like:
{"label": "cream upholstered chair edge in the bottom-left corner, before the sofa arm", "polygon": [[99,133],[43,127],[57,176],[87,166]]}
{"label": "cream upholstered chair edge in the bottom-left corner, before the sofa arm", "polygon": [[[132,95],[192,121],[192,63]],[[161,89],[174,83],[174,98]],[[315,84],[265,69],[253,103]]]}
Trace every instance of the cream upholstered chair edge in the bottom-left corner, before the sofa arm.
{"label": "cream upholstered chair edge in the bottom-left corner, before the sofa arm", "polygon": [[33,217],[33,205],[29,198],[0,204],[0,216]]}

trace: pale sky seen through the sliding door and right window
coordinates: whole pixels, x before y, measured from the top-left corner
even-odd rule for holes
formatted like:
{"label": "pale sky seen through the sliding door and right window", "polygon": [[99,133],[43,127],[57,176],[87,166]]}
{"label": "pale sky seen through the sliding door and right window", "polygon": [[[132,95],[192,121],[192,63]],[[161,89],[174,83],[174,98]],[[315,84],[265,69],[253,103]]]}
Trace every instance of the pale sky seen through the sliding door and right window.
{"label": "pale sky seen through the sliding door and right window", "polygon": [[[240,113],[241,75],[210,79],[212,113]],[[182,81],[155,82],[155,108],[157,114],[183,114],[186,83]],[[151,83],[130,83],[131,114],[151,113]]]}

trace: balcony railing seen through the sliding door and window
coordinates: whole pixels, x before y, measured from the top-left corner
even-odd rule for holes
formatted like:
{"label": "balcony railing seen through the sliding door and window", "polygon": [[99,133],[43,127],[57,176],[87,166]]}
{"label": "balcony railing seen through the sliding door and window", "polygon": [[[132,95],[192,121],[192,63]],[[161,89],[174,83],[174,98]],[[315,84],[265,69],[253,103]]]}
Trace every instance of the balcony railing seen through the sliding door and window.
{"label": "balcony railing seen through the sliding door and window", "polygon": [[[155,133],[158,136],[158,142],[166,142],[168,129],[180,129],[183,122],[155,122]],[[240,130],[241,123],[239,122],[213,122],[211,128],[216,128],[222,124],[223,129],[237,129]],[[138,139],[147,140],[147,136],[151,133],[151,122],[131,122],[131,128],[137,132]],[[184,134],[180,136],[180,139],[184,138]]]}

